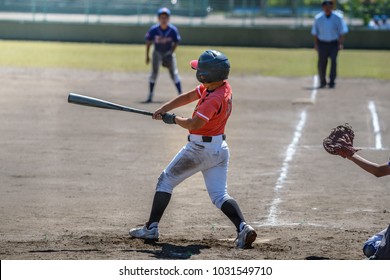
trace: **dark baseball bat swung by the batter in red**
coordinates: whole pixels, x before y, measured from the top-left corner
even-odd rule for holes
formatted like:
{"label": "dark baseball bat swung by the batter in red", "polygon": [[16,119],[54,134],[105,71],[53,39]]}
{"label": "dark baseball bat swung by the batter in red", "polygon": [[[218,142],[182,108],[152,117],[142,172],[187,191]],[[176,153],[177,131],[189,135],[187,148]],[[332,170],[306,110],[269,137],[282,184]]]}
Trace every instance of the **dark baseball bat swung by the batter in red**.
{"label": "dark baseball bat swung by the batter in red", "polygon": [[78,104],[78,105],[83,105],[83,106],[90,106],[96,108],[111,109],[111,110],[118,110],[118,111],[137,113],[137,114],[142,114],[147,116],[153,116],[152,112],[127,107],[120,104],[115,104],[106,100],[97,99],[94,97],[81,95],[77,93],[69,93],[68,102]]}

